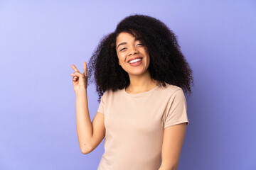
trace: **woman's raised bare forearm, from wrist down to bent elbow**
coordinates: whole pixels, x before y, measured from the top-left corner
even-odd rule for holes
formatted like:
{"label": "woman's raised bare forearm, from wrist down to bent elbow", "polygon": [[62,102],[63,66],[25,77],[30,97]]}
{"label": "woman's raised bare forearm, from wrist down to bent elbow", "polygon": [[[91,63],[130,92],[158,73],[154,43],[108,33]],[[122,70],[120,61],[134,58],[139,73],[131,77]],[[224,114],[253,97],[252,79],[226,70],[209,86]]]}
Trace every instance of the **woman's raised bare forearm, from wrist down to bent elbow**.
{"label": "woman's raised bare forearm, from wrist down to bent elbow", "polygon": [[78,132],[78,142],[81,152],[90,152],[90,141],[92,139],[92,122],[87,102],[87,91],[82,90],[76,94],[76,128]]}

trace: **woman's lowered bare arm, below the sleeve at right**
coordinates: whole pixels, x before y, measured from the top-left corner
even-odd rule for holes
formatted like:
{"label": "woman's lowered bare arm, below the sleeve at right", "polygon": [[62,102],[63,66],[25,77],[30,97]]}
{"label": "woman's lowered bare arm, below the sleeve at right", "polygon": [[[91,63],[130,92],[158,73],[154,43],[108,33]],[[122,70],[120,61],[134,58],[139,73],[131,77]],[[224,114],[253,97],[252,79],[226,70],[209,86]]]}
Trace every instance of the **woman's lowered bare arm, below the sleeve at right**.
{"label": "woman's lowered bare arm, below the sleeve at right", "polygon": [[178,169],[178,161],[185,134],[186,123],[172,125],[164,129],[164,139],[161,151],[162,162],[159,170]]}

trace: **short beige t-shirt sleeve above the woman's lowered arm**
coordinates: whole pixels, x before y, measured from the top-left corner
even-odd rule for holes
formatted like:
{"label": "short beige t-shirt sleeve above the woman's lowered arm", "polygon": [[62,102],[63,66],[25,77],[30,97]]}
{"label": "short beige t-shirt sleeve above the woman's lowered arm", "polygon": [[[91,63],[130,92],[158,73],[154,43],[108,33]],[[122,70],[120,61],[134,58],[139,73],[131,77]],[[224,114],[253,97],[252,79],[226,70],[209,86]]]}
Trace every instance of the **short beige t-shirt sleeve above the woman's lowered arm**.
{"label": "short beige t-shirt sleeve above the woman's lowered arm", "polygon": [[178,89],[172,94],[164,111],[164,128],[179,123],[189,124],[186,98],[182,89]]}

